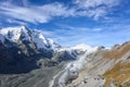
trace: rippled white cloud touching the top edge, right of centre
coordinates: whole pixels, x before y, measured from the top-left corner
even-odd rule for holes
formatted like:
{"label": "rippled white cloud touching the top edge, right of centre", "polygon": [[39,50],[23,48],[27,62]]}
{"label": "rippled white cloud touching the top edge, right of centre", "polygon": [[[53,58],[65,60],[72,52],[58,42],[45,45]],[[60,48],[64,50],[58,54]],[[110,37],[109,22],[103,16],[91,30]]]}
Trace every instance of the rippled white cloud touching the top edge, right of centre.
{"label": "rippled white cloud touching the top edge, right of centre", "polygon": [[93,17],[95,21],[107,15],[113,8],[119,5],[120,0],[74,0],[79,15]]}

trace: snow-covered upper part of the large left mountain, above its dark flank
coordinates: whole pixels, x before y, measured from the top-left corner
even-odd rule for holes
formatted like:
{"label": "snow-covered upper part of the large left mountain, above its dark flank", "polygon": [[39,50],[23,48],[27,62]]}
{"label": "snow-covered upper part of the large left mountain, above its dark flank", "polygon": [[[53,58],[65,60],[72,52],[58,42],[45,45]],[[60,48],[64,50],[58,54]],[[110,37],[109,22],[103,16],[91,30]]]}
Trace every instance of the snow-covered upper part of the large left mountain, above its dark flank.
{"label": "snow-covered upper part of the large left mountain, above its dark flank", "polygon": [[[16,44],[20,40],[29,41],[29,42],[31,41],[36,45],[38,49],[57,50],[61,48],[61,46],[55,44],[52,39],[46,38],[42,32],[30,30],[26,26],[2,28],[0,29],[0,34],[5,39]],[[2,36],[0,38],[1,38],[1,41],[3,42]]]}

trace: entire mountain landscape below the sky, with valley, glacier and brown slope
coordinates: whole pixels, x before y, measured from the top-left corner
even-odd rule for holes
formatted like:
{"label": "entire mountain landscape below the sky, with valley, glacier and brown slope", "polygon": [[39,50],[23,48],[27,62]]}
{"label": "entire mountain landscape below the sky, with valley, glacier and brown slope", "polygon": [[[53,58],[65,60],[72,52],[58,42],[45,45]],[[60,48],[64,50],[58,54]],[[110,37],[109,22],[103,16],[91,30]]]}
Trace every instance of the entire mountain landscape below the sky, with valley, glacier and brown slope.
{"label": "entire mountain landscape below the sky, with valley, glacier and brown slope", "polygon": [[130,41],[65,48],[42,30],[0,29],[0,87],[130,87]]}

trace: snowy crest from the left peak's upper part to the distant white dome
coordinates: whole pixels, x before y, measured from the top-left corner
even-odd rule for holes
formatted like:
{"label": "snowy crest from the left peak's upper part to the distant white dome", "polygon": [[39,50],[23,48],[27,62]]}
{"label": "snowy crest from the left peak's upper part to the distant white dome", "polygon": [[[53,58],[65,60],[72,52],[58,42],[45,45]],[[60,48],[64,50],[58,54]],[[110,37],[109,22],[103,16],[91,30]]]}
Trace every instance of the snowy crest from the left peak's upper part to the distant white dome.
{"label": "snowy crest from the left peak's upper part to the distant white dome", "polygon": [[5,39],[20,44],[22,42],[29,42],[28,46],[32,48],[36,46],[38,50],[46,49],[46,50],[53,50],[53,51],[77,51],[77,52],[86,52],[95,50],[96,47],[90,47],[84,44],[77,45],[75,47],[69,48],[62,48],[58,44],[54,42],[51,38],[46,38],[42,30],[38,29],[28,29],[26,26],[18,26],[18,27],[6,27],[0,29],[0,41],[5,44]]}

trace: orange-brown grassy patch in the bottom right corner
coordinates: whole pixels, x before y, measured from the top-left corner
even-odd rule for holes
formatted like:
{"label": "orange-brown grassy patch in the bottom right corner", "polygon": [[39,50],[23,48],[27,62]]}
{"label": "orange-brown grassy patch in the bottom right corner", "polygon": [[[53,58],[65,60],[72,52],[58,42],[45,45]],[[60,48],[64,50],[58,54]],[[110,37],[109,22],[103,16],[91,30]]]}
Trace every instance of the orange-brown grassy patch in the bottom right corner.
{"label": "orange-brown grassy patch in the bottom right corner", "polygon": [[104,87],[110,87],[110,83],[114,82],[116,87],[130,87],[130,80],[122,83],[130,78],[130,63],[116,64],[112,70],[104,74],[106,83]]}

